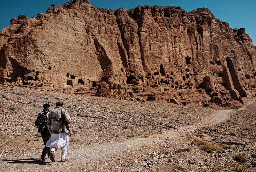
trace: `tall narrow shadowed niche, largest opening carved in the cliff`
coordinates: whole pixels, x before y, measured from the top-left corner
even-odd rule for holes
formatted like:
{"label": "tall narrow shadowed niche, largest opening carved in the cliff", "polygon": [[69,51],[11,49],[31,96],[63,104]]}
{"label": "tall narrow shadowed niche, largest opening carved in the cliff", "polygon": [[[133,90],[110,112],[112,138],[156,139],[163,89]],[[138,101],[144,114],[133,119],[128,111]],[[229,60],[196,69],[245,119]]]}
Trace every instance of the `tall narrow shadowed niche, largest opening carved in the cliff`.
{"label": "tall narrow shadowed niche, largest opening carved in the cliff", "polygon": [[247,97],[246,92],[243,90],[243,88],[239,82],[239,79],[238,79],[237,73],[235,72],[234,64],[233,64],[232,60],[230,59],[230,57],[227,57],[226,60],[227,60],[227,68],[229,69],[234,88],[239,92],[240,96]]}

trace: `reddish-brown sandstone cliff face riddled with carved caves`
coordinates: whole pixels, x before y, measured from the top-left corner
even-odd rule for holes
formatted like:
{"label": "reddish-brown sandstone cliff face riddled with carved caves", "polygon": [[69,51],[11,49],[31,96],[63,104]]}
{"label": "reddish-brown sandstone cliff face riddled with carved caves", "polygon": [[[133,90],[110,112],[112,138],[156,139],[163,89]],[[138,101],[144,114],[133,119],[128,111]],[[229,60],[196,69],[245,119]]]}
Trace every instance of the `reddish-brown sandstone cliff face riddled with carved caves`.
{"label": "reddish-brown sandstone cliff face riddled with carved caves", "polygon": [[256,50],[209,9],[95,8],[88,0],[21,15],[0,32],[4,84],[135,101],[230,106],[255,96]]}

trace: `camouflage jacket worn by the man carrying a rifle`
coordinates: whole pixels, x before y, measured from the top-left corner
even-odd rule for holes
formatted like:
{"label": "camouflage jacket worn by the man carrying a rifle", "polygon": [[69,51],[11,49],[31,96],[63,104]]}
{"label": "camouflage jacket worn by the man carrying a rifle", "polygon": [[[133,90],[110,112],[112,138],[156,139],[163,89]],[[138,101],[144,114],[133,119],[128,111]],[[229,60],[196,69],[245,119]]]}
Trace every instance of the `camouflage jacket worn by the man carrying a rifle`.
{"label": "camouflage jacket worn by the man carrying a rifle", "polygon": [[71,118],[69,114],[67,113],[67,110],[62,108],[61,106],[57,106],[54,109],[51,110],[51,112],[48,115],[48,129],[51,134],[59,134],[59,133],[67,133],[69,134],[69,131],[67,130],[66,126],[63,125],[61,127],[62,119],[59,119],[61,117],[61,109],[62,115],[65,116],[65,121],[69,124],[71,122]]}

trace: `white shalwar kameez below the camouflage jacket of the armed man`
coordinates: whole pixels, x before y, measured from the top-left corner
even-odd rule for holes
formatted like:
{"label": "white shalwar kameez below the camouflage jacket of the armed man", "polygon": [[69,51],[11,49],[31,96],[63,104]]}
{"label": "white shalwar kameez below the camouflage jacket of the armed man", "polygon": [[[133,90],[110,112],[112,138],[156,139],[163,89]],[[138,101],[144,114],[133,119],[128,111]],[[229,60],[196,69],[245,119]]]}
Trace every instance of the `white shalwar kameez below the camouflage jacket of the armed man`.
{"label": "white shalwar kameez below the camouflage jacket of the armed man", "polygon": [[51,138],[47,141],[46,147],[50,147],[50,152],[54,152],[61,148],[61,158],[65,159],[67,152],[69,151],[69,134],[60,133],[60,134],[52,134]]}

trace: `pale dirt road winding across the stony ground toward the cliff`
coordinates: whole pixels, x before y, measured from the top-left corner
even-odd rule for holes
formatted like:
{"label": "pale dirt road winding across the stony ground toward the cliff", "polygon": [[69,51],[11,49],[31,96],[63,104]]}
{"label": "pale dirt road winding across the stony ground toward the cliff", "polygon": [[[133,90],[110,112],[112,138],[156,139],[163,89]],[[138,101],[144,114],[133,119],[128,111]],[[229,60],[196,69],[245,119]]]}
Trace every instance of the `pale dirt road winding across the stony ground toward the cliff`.
{"label": "pale dirt road winding across the stony ground toward the cliff", "polygon": [[[249,102],[250,104],[252,102]],[[244,110],[247,105],[238,110]],[[115,153],[125,151],[127,149],[135,148],[139,145],[150,144],[151,142],[163,140],[166,138],[174,138],[193,133],[196,129],[205,126],[214,125],[229,118],[230,112],[233,110],[215,110],[202,122],[184,126],[182,128],[173,129],[170,132],[149,136],[146,138],[131,138],[121,142],[114,142],[109,144],[101,144],[99,146],[91,146],[84,149],[73,149],[69,152],[69,161],[65,163],[52,163],[49,159],[47,162],[40,162],[39,154],[30,155],[28,157],[20,157],[15,159],[1,159],[0,171],[34,171],[35,168],[42,169],[42,171],[58,169],[62,171],[77,171],[81,167],[93,163],[97,159],[109,157]],[[61,152],[56,152],[56,157],[61,157]],[[33,164],[33,166],[31,166]],[[41,166],[43,165],[43,166]]]}

